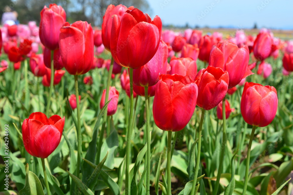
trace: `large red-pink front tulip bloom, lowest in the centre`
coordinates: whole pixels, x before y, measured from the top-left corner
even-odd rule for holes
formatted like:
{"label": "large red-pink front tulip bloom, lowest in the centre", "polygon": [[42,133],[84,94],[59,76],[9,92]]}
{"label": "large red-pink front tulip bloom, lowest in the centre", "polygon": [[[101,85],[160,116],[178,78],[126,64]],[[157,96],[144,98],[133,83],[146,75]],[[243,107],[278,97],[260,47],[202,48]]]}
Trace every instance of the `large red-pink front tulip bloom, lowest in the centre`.
{"label": "large red-pink front tulip bloom, lowest in the centre", "polygon": [[180,131],[190,121],[197,99],[197,85],[190,76],[161,74],[157,83],[153,116],[165,131]]}

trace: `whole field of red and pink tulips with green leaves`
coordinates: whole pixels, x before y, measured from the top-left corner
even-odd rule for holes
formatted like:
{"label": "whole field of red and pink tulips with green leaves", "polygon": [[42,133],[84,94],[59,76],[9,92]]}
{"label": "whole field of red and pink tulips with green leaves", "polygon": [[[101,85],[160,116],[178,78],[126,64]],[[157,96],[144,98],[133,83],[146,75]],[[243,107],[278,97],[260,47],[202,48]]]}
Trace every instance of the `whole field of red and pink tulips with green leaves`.
{"label": "whole field of red and pink tulips with green leaves", "polygon": [[293,195],[293,40],[47,6],[0,26],[0,195]]}

